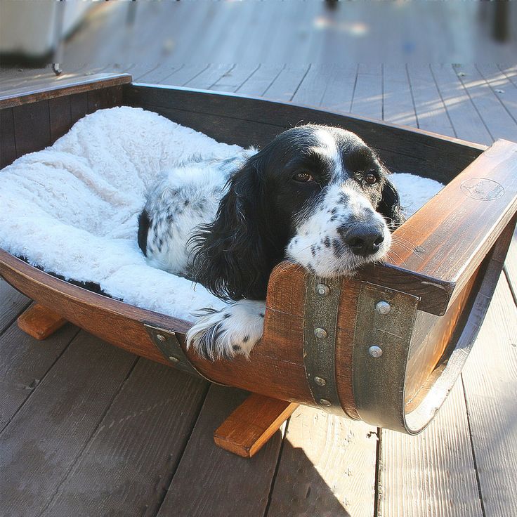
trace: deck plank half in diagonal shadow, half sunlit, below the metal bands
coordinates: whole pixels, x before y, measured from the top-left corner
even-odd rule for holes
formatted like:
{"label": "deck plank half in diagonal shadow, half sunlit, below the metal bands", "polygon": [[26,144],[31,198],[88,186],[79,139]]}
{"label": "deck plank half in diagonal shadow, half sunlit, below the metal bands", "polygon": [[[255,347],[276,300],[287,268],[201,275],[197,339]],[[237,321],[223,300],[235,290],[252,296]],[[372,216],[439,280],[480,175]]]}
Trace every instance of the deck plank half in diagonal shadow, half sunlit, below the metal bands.
{"label": "deck plank half in diagonal shadow, half sunlit, below the metal bands", "polygon": [[299,407],[287,426],[268,517],[373,516],[376,431]]}

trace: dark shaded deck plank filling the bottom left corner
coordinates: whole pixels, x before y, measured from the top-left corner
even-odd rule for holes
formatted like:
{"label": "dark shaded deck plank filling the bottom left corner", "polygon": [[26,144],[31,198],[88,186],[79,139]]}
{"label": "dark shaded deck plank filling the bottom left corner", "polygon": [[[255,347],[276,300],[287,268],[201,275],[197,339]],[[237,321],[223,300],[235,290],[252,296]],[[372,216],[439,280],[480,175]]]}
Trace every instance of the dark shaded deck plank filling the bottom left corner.
{"label": "dark shaded deck plank filling the bottom left corner", "polygon": [[6,515],[38,515],[46,508],[136,362],[84,333],[61,359],[0,435]]}

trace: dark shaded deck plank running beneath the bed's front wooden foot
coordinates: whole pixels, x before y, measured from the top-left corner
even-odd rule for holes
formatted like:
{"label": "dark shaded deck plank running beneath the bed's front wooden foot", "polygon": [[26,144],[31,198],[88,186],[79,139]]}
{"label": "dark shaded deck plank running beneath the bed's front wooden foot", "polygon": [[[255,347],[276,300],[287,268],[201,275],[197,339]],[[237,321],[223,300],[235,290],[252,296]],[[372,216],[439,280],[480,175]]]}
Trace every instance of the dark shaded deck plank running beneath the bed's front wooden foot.
{"label": "dark shaded deck plank running beneath the bed's front wooden foot", "polygon": [[247,393],[212,385],[158,517],[263,517],[280,452],[282,433],[252,458],[217,447],[214,429]]}

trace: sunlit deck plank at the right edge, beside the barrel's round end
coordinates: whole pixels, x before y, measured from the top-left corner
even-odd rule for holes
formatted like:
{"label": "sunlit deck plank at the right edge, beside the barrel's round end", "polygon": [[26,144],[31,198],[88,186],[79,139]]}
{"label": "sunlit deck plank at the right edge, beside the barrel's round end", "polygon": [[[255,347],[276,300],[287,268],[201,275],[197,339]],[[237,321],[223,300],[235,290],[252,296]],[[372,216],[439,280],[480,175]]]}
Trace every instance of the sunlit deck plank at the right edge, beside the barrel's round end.
{"label": "sunlit deck plank at the right edge, beside the barrel's round end", "polygon": [[501,275],[463,369],[471,440],[487,517],[515,513],[517,501],[517,308]]}

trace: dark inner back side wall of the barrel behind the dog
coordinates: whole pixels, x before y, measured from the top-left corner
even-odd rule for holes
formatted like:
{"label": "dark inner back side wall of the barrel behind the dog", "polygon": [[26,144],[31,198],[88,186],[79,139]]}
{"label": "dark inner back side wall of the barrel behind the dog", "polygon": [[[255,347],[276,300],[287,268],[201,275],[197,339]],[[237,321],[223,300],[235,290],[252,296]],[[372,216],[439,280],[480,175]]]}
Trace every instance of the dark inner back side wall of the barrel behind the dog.
{"label": "dark inner back side wall of the barrel behind the dog", "polygon": [[[281,77],[282,74],[278,79]],[[126,89],[125,103],[146,107],[165,116],[176,115],[177,110],[182,110],[191,113],[191,123],[198,126],[206,116],[213,119],[220,117],[221,122],[212,126],[209,135],[216,139],[223,137],[224,141],[228,141],[228,133],[220,131],[226,131],[226,126],[232,127],[233,124],[239,124],[239,121],[268,124],[282,129],[308,122],[341,126],[358,133],[369,145],[379,150],[381,158],[391,169],[421,174],[443,183],[450,181],[485,149],[483,145],[417,129],[403,129],[384,122],[373,123],[362,117],[224,93],[195,92],[165,86],[131,86]],[[265,138],[257,139],[251,134],[247,143],[244,143],[245,136],[243,138],[237,129],[238,126],[233,127],[232,143],[265,145],[271,138],[271,135],[264,135]]]}

